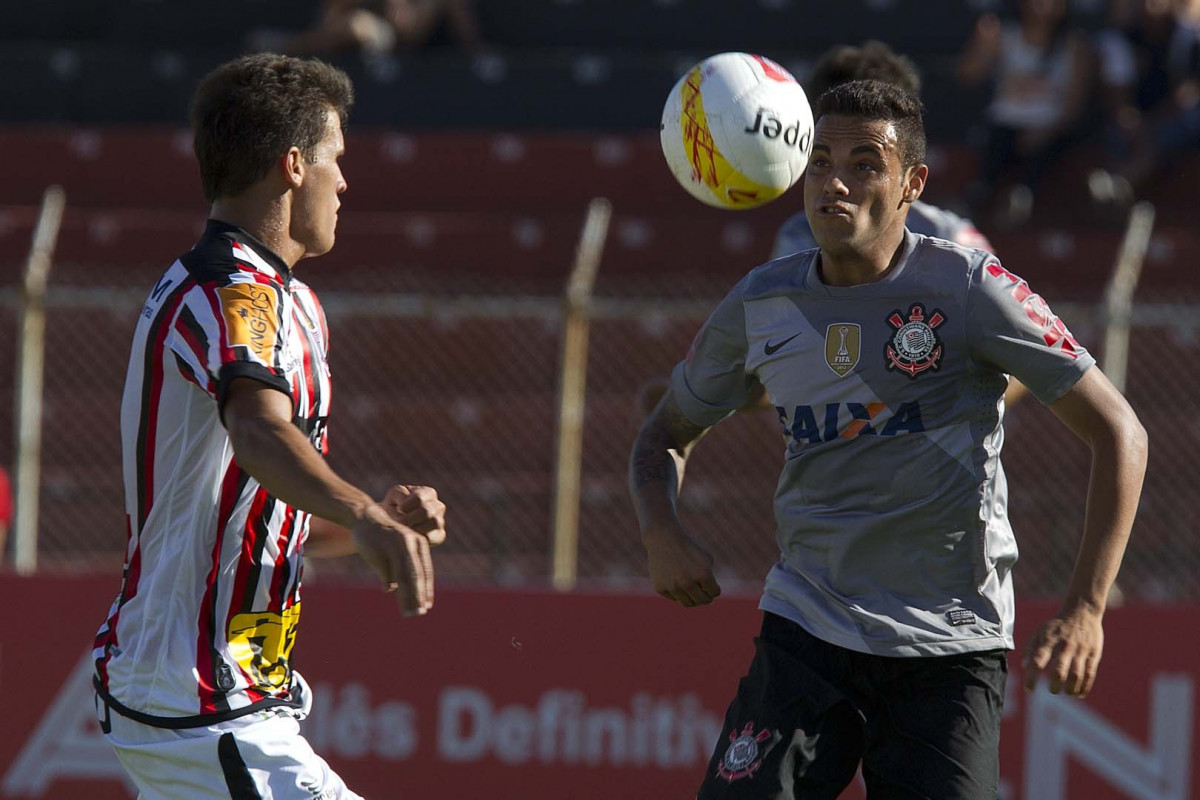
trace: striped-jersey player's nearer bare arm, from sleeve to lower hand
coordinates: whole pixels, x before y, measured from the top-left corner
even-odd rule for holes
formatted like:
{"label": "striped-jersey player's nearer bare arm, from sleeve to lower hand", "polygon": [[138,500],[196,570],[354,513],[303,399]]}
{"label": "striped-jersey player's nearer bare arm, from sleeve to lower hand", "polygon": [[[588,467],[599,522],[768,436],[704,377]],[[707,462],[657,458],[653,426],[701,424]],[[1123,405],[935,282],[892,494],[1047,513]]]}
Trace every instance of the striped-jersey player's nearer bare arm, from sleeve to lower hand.
{"label": "striped-jersey player's nearer bare arm, from sleeve to lower hand", "polygon": [[[317,524],[318,552],[356,552],[400,589],[406,614],[433,602],[433,565],[425,536],[394,521],[365,492],[338,477],[299,428],[292,399],[250,378],[235,379],[224,404],[234,458],[259,485],[290,506],[328,521]],[[332,525],[332,528],[330,527]],[[336,528],[342,528],[341,534]]]}

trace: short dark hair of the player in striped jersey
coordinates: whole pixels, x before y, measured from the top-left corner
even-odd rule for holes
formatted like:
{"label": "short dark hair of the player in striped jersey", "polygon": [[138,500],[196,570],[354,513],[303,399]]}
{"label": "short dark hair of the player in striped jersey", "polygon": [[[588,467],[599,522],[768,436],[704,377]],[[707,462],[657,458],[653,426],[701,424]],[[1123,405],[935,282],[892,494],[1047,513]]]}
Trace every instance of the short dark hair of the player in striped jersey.
{"label": "short dark hair of the player in striped jersey", "polygon": [[312,160],[329,109],[346,126],[350,79],[317,59],[258,53],[223,64],[192,98],[192,133],[204,197],[235,197],[262,180],[289,148]]}

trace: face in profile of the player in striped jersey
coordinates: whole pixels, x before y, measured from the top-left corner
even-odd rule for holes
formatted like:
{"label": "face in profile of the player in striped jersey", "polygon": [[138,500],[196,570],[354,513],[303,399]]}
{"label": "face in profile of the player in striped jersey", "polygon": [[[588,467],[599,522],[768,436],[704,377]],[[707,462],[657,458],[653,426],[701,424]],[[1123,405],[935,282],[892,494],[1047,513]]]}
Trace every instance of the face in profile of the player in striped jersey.
{"label": "face in profile of the player in striped jersey", "polygon": [[304,180],[294,190],[292,237],[305,247],[305,255],[322,255],[334,247],[337,230],[338,197],[346,191],[346,179],[337,160],[346,152],[342,125],[332,109],[325,114],[325,137],[313,149],[312,162],[305,160]]}

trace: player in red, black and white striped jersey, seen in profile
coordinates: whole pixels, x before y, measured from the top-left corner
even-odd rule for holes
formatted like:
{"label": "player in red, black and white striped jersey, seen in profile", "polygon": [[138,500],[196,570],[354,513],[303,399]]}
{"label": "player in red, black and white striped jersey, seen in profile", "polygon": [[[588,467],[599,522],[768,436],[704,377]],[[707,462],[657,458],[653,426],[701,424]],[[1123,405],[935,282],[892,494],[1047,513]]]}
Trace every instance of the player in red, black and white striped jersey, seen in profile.
{"label": "player in red, black and white striped jersey, seen in profile", "polygon": [[353,90],[260,54],[192,103],[208,227],[150,291],[121,407],[125,575],[95,640],[97,712],[140,798],[353,800],[299,733],[305,555],[358,553],[433,603],[428,487],[382,501],[326,464],[329,329],[296,263],[334,246]]}

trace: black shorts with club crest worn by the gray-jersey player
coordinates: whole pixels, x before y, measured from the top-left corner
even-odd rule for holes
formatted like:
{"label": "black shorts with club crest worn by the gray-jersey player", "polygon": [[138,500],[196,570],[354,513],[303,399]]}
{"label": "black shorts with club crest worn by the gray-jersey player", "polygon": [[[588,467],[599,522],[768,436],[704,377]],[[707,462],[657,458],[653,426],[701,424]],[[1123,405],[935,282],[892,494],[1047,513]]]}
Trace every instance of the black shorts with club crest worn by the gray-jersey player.
{"label": "black shorts with club crest worn by the gray-jersey player", "polygon": [[1003,650],[893,658],[764,614],[697,800],[996,800]]}

